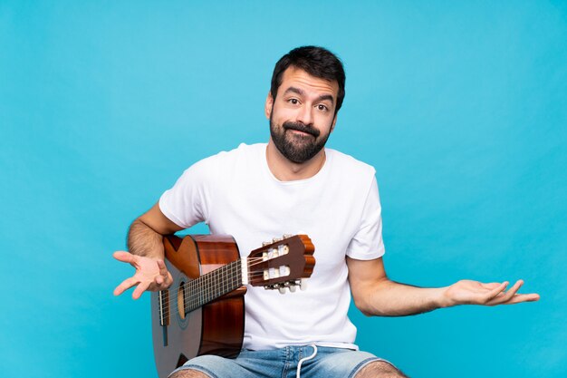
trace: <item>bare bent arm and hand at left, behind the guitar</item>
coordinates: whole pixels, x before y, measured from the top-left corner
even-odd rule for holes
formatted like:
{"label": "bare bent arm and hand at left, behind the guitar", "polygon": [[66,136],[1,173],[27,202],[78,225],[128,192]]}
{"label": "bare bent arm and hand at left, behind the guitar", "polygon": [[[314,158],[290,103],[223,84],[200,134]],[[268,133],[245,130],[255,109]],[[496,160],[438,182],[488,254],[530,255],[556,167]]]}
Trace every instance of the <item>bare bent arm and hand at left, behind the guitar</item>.
{"label": "bare bent arm and hand at left, behind the guitar", "polygon": [[128,233],[130,252],[117,251],[113,257],[130,263],[136,268],[136,273],[114,289],[115,296],[136,286],[132,297],[138,299],[146,290],[163,290],[171,285],[173,279],[163,261],[162,238],[180,229],[182,228],[163,215],[158,203],[132,222]]}

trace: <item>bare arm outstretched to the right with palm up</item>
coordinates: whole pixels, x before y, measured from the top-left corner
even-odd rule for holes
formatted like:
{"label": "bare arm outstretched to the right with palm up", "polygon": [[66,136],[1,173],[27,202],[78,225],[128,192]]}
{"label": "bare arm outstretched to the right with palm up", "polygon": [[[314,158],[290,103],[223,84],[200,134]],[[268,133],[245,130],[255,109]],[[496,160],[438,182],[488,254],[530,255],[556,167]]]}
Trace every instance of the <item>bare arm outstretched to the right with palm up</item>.
{"label": "bare arm outstretched to the right with palm up", "polygon": [[422,288],[399,284],[386,276],[382,258],[347,257],[349,282],[355,305],[364,315],[416,315],[453,305],[511,305],[532,302],[537,294],[517,294],[519,280],[508,291],[508,282],[483,284],[462,280],[447,287]]}

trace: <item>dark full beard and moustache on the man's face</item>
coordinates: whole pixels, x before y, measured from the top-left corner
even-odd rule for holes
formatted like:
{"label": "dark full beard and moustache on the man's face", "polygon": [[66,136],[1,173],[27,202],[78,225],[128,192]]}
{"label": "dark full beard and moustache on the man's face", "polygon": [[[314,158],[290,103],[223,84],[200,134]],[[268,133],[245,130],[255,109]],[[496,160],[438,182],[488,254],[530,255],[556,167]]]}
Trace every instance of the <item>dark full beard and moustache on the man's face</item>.
{"label": "dark full beard and moustache on the man's face", "polygon": [[[292,130],[303,131],[308,135],[297,134]],[[270,135],[275,147],[287,160],[296,164],[311,160],[317,155],[325,146],[330,133],[331,131],[321,136],[321,131],[300,122],[285,121],[282,125],[277,125],[270,117]]]}

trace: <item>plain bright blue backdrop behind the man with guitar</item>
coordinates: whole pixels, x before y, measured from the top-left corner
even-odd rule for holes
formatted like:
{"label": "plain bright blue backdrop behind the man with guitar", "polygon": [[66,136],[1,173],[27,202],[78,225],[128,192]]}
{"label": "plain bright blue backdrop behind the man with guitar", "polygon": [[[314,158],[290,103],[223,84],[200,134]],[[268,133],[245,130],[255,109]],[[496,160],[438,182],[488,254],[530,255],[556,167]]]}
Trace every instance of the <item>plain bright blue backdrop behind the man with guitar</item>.
{"label": "plain bright blue backdrop behind the man with guitar", "polygon": [[329,146],[377,169],[389,276],[542,295],[353,309],[360,347],[412,377],[565,376],[566,3],[195,3],[0,1],[1,375],[156,376],[149,296],[112,296],[111,253],[188,165],[267,141],[274,63],[320,44],[347,71]]}

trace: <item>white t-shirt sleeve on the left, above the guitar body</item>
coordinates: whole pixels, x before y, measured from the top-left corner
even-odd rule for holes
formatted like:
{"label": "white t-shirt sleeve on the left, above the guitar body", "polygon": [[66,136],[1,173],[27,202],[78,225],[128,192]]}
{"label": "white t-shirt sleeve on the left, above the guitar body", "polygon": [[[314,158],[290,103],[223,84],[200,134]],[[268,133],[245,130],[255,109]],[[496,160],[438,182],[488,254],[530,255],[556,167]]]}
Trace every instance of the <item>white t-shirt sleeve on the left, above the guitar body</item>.
{"label": "white t-shirt sleeve on the left, above the guitar body", "polygon": [[159,198],[159,209],[181,228],[207,221],[207,189],[204,175],[207,167],[201,160],[183,172],[175,185]]}

